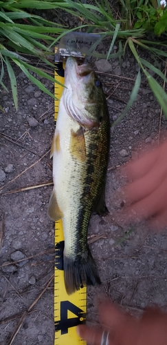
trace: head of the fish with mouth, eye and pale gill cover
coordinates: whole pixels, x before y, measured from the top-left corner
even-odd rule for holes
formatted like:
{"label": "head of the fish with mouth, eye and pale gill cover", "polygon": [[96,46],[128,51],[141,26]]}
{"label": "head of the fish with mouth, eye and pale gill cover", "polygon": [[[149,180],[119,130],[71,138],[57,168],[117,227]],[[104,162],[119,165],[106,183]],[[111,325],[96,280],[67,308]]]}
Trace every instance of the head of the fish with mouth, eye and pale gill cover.
{"label": "head of the fish with mouth, eye and pale gill cover", "polygon": [[84,128],[100,126],[106,105],[102,83],[89,63],[68,57],[63,92],[67,114]]}

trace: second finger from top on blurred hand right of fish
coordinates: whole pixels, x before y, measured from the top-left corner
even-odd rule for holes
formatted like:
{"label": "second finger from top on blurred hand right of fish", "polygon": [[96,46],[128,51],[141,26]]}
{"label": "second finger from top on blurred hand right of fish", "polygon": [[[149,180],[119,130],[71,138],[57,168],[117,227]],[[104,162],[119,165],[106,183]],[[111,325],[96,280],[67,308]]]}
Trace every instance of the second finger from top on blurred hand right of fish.
{"label": "second finger from top on blurred hand right of fish", "polygon": [[157,164],[144,177],[122,188],[125,197],[132,203],[147,197],[162,184],[166,173],[167,166]]}

